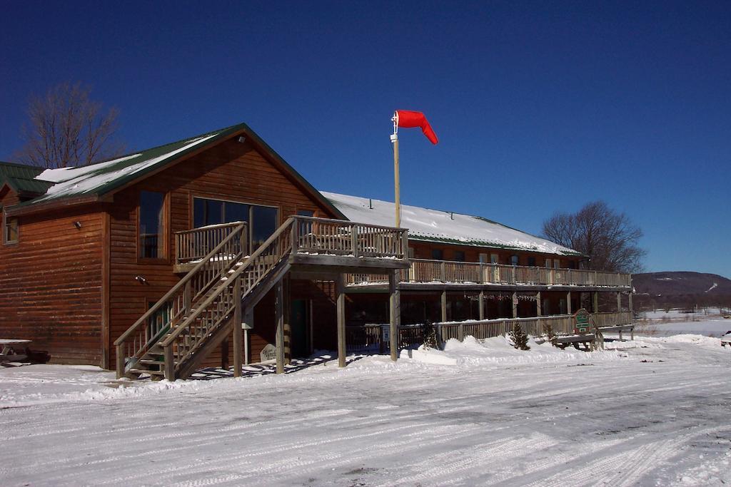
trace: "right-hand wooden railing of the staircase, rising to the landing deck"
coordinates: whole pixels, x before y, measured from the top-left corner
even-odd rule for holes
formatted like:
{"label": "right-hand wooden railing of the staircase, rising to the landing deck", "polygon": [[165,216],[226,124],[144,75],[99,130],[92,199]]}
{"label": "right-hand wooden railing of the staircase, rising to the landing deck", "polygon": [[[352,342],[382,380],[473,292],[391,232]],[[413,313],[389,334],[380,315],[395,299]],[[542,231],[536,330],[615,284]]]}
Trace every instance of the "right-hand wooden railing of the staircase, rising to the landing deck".
{"label": "right-hand wooden railing of the staircase, rising to the landing deck", "polygon": [[240,285],[240,296],[246,296],[264,280],[283,258],[295,250],[292,235],[295,218],[287,218],[254,253],[232,269],[221,283],[192,312],[173,327],[160,342],[164,350],[165,378],[175,380],[176,373],[205,343],[219,326],[226,323],[236,307],[235,285]]}

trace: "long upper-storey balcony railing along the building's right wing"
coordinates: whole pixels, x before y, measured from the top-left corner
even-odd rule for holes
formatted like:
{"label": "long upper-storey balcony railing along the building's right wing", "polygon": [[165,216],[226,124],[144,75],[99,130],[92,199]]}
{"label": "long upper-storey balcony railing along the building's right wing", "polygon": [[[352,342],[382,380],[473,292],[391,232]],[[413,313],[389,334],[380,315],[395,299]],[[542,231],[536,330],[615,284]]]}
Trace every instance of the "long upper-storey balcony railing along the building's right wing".
{"label": "long upper-storey balcony railing along the building's right wing", "polygon": [[[401,272],[401,283],[462,283],[520,285],[579,285],[623,287],[632,285],[632,275],[586,269],[507,266],[480,262],[431,261],[412,258],[411,266]],[[350,275],[348,283],[363,285],[385,283],[385,275]]]}

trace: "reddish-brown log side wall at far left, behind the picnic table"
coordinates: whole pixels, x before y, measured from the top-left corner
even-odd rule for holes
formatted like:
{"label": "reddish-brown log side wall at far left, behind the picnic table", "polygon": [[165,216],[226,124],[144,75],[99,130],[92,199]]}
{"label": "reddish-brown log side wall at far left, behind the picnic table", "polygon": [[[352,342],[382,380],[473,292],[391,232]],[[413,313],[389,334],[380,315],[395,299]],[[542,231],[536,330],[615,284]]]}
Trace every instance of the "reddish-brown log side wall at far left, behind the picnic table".
{"label": "reddish-brown log side wall at far left, behind the picnic table", "polygon": [[33,340],[53,363],[101,364],[103,215],[19,218],[18,243],[0,246],[0,337]]}

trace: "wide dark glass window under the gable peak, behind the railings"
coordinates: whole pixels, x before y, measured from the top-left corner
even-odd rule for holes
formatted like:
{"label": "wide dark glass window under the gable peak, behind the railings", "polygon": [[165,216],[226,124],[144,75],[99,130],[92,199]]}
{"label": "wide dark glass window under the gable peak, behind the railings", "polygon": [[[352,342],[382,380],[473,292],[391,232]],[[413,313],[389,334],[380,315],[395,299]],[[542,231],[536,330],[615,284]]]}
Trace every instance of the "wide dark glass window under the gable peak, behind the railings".
{"label": "wide dark glass window under the gable peak, behind the railings", "polygon": [[256,250],[279,226],[279,210],[257,204],[226,202],[218,199],[193,199],[195,228],[216,223],[245,221],[249,223],[251,251]]}

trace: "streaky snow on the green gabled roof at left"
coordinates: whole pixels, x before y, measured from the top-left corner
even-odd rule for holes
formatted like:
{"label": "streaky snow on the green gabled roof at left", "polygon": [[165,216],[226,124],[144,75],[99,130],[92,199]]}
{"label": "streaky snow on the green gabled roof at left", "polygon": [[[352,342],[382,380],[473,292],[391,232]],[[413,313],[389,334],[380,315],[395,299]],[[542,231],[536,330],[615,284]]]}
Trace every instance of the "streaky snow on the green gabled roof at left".
{"label": "streaky snow on the green gabled roof at left", "polygon": [[132,154],[131,156],[124,156],[89,166],[46,169],[36,179],[56,184],[48,188],[44,196],[34,199],[33,203],[44,202],[63,196],[78,196],[85,193],[94,193],[94,191],[102,188],[107,183],[111,183],[121,177],[130,177],[145,169],[149,169],[175,156],[175,154],[201,145],[203,142],[212,137],[216,137],[218,134],[219,132],[216,132],[205,137],[195,137],[194,139],[181,141],[181,143],[172,145],[175,148],[170,147],[172,150],[163,153],[152,153],[150,150],[145,153]]}

